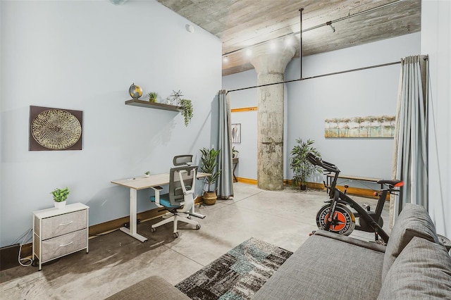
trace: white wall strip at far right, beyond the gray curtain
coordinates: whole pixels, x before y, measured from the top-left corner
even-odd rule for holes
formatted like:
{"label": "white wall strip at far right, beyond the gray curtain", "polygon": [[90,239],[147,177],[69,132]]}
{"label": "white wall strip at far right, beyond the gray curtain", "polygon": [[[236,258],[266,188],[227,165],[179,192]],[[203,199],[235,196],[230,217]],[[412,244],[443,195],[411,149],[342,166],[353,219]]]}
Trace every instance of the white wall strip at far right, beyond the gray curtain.
{"label": "white wall strip at far right, beyond the gray curtain", "polygon": [[451,2],[421,2],[421,53],[429,55],[429,208],[437,233],[451,237]]}

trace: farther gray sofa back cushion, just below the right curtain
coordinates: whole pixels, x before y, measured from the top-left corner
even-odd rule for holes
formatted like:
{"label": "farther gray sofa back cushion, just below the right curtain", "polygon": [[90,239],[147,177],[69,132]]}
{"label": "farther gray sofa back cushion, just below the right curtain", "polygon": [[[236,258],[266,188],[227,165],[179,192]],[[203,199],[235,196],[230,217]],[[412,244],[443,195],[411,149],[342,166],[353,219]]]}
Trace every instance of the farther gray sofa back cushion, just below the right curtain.
{"label": "farther gray sofa back cushion, just below the right curtain", "polygon": [[422,237],[438,243],[435,226],[426,209],[420,205],[406,204],[400,215],[397,216],[390,239],[388,239],[383,259],[382,281],[385,280],[385,276],[397,256],[413,237]]}

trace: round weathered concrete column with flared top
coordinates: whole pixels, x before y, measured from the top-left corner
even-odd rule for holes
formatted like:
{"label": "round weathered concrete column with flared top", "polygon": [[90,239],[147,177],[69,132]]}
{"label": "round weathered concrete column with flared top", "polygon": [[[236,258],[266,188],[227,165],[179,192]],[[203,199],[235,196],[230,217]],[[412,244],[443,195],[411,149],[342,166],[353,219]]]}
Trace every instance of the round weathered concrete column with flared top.
{"label": "round weathered concrete column with flared top", "polygon": [[[295,46],[280,41],[253,51],[251,63],[257,71],[257,85],[283,82]],[[257,88],[257,183],[259,188],[271,191],[283,189],[283,93],[283,84]]]}

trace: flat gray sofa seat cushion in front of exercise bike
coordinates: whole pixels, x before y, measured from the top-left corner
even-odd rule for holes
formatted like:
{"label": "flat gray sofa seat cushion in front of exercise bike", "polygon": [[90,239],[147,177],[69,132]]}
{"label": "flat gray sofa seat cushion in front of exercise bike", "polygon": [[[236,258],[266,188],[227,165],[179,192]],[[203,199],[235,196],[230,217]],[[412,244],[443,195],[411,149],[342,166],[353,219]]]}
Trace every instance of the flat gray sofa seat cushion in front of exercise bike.
{"label": "flat gray sofa seat cushion in front of exercise bike", "polygon": [[381,251],[315,234],[252,299],[376,299],[382,263]]}

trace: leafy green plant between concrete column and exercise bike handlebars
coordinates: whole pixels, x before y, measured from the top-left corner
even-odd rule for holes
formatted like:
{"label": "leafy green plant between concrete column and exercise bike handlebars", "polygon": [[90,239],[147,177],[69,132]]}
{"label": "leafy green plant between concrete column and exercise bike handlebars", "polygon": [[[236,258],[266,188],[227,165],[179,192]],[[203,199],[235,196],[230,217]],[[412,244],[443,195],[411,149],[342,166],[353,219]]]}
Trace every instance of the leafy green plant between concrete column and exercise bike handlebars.
{"label": "leafy green plant between concrete column and exercise bike handlebars", "polygon": [[306,190],[307,185],[305,180],[316,172],[322,173],[323,170],[317,165],[313,165],[307,159],[307,154],[311,153],[315,156],[321,157],[319,151],[312,146],[314,141],[307,139],[307,142],[302,142],[302,139],[296,140],[297,145],[291,150],[290,169],[293,171],[293,179],[291,181],[293,187],[300,185],[301,190]]}

